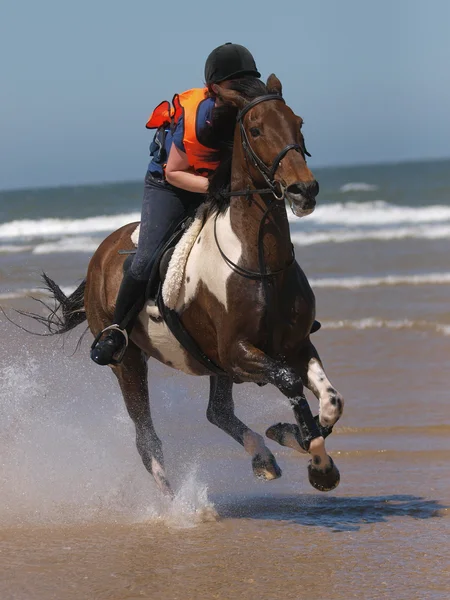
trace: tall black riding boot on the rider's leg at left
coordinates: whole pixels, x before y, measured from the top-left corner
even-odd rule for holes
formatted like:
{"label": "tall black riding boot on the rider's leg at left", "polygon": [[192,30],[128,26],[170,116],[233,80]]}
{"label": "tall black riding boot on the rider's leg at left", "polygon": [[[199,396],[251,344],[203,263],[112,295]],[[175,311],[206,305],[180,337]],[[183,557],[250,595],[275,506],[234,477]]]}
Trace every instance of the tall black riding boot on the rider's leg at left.
{"label": "tall black riding boot on the rider's leg at left", "polygon": [[99,333],[91,346],[91,358],[98,365],[118,364],[123,358],[136,319],[144,305],[146,281],[125,273],[114,310],[114,325]]}

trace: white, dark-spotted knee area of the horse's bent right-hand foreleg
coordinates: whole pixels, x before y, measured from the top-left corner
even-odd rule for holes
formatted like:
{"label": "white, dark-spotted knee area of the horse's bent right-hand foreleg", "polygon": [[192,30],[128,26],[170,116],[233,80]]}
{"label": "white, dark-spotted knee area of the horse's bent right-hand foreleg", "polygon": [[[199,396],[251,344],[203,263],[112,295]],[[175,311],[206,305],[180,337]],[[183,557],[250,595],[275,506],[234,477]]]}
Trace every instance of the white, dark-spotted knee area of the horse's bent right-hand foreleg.
{"label": "white, dark-spotted knee area of the horse's bent right-hand foreleg", "polygon": [[344,410],[344,399],[333,387],[317,358],[308,362],[308,381],[306,383],[319,400],[320,424],[334,425]]}

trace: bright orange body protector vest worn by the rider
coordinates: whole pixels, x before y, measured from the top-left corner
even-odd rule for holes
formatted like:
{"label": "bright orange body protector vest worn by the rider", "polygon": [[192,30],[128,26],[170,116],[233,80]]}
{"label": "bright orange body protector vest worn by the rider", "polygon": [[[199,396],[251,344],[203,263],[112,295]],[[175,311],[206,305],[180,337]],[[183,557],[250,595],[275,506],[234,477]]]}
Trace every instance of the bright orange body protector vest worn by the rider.
{"label": "bright orange body protector vest worn by the rider", "polygon": [[208,160],[211,148],[201,144],[197,138],[197,113],[201,102],[207,98],[207,88],[193,88],[175,94],[172,104],[164,100],[155,108],[147,121],[147,129],[172,128],[181,116],[184,120],[183,144],[189,165],[197,173],[214,171],[219,163]]}

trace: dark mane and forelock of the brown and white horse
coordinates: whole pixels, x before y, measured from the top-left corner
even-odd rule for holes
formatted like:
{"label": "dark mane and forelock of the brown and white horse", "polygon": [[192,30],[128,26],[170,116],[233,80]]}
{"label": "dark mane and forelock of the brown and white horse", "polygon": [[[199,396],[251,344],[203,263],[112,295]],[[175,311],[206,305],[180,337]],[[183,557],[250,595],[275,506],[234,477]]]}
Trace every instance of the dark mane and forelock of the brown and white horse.
{"label": "dark mane and forelock of the brown and white horse", "polygon": [[[256,77],[244,77],[231,82],[230,88],[238,92],[247,100],[266,96],[269,93],[266,85]],[[212,112],[211,121],[211,147],[219,146],[212,151],[210,159],[219,161],[219,167],[214,171],[209,180],[208,201],[211,212],[223,212],[230,205],[227,192],[231,185],[231,159],[233,155],[234,131],[238,109],[230,104],[216,106]]]}

